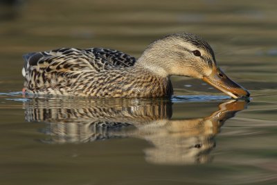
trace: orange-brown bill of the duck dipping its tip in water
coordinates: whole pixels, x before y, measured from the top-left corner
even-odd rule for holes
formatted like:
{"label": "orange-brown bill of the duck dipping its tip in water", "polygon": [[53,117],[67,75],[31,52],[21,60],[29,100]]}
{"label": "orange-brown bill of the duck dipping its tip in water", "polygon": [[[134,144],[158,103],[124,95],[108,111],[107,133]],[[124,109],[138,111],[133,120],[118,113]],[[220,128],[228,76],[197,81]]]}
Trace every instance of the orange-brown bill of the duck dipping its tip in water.
{"label": "orange-brown bill of the duck dipping its tip in water", "polygon": [[204,76],[202,80],[233,98],[250,96],[247,89],[244,89],[242,86],[228,78],[220,68],[213,67],[211,75]]}

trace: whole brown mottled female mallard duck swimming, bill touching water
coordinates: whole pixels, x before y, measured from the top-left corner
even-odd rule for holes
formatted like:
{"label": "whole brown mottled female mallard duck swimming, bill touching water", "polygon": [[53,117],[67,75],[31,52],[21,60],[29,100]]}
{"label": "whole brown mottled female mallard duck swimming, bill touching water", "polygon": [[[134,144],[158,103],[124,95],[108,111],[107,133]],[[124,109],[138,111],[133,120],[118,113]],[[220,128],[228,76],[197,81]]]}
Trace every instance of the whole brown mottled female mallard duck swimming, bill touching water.
{"label": "whole brown mottled female mallard duck swimming, bill touching water", "polygon": [[150,44],[136,58],[113,49],[55,49],[24,55],[28,94],[97,97],[163,97],[173,94],[170,76],[199,78],[233,98],[249,91],[217,67],[211,46],[191,33]]}

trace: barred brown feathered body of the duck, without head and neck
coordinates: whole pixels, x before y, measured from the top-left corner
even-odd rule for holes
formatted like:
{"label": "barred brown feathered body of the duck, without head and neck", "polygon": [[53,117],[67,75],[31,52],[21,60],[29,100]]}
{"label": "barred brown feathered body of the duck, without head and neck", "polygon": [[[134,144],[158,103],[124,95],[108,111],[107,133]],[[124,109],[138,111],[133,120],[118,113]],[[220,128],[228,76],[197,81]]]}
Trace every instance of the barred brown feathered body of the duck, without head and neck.
{"label": "barred brown feathered body of the duck, without head and neck", "polygon": [[134,67],[136,59],[112,49],[55,49],[24,55],[24,87],[30,94],[161,97],[169,78]]}

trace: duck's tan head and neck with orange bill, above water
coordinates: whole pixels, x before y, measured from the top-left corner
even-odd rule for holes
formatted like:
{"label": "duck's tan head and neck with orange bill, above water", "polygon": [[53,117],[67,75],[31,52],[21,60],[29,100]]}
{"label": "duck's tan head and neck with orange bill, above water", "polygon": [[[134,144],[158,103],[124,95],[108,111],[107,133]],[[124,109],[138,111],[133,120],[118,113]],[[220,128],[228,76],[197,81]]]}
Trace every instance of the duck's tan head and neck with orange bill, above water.
{"label": "duck's tan head and neck with orange bill, above water", "polygon": [[148,46],[137,65],[158,76],[188,76],[202,79],[233,98],[250,96],[249,91],[217,67],[211,46],[201,37],[177,33],[158,39]]}

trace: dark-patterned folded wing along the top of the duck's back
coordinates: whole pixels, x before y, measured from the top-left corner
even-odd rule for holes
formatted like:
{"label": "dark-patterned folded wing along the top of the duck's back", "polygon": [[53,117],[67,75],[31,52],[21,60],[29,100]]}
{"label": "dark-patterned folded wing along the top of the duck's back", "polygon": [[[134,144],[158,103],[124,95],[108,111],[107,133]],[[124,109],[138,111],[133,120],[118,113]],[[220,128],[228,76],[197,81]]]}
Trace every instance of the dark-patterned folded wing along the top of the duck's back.
{"label": "dark-patterned folded wing along the top of the duck's back", "polygon": [[100,72],[114,67],[132,67],[136,59],[113,49],[55,49],[24,55],[23,76],[32,69],[46,72],[90,71]]}

